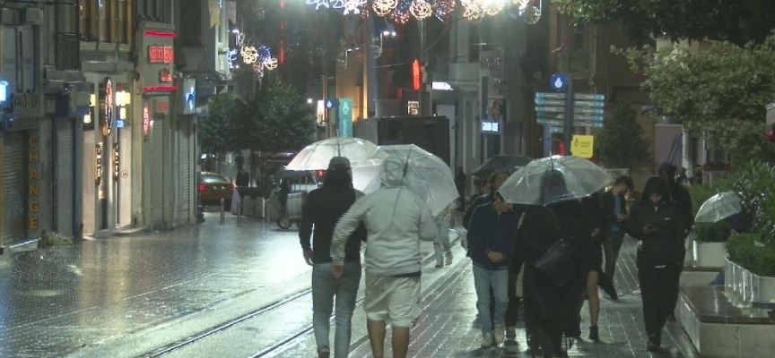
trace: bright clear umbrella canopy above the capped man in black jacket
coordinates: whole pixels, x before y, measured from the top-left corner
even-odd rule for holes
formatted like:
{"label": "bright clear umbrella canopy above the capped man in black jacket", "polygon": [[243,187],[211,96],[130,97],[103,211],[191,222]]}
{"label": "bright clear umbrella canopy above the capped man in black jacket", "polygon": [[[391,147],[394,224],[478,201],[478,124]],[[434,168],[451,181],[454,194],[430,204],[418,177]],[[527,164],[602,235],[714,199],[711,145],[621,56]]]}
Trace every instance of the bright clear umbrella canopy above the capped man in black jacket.
{"label": "bright clear umbrella canopy above the capped man in black jacket", "polygon": [[316,141],[301,149],[288,163],[288,170],[318,170],[327,169],[328,162],[334,157],[350,159],[354,165],[370,157],[377,145],[360,138],[334,137],[323,141]]}

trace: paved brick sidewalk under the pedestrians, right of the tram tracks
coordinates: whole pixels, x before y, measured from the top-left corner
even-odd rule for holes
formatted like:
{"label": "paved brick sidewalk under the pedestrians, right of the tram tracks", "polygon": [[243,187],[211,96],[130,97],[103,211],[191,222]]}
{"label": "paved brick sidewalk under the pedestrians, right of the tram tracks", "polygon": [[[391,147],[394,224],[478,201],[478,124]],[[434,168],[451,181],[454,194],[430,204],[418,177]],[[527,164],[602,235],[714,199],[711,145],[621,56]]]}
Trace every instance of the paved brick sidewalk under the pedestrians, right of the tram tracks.
{"label": "paved brick sidewalk under the pedestrians, right of the tram tracks", "polygon": [[[410,357],[514,357],[527,356],[527,342],[524,326],[518,326],[519,354],[508,354],[502,348],[483,350],[480,345],[480,331],[475,321],[476,294],[474,291],[471,261],[456,248],[456,263],[449,268],[446,277],[422,293],[422,316],[412,330],[409,347]],[[642,305],[635,268],[635,241],[627,238],[622,248],[616,272],[616,286],[620,294],[618,301],[601,300],[598,327],[602,342],[579,342],[570,356],[589,357],[652,357],[677,356],[699,357],[692,347],[684,329],[678,323],[668,323],[663,332],[664,352],[651,354],[646,350],[643,328]],[[520,312],[521,317],[521,312]],[[588,308],[581,312],[582,337],[588,334]],[[333,326],[333,325],[332,325]],[[332,334],[333,334],[332,327]],[[388,329],[385,356],[391,356]],[[332,342],[333,344],[333,342]],[[305,337],[292,343],[280,357],[315,357],[314,337]],[[353,344],[350,357],[370,357],[370,345],[365,330],[362,309],[356,308],[353,317]]]}

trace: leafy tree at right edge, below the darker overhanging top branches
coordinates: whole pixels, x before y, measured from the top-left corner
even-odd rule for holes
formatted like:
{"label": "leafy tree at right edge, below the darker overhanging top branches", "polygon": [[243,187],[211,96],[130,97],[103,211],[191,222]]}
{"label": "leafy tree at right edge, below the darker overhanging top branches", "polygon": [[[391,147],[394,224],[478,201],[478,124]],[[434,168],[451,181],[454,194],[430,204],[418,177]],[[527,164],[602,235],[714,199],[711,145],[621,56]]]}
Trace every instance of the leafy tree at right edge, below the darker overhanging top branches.
{"label": "leafy tree at right edge, below the darker overhanging top branches", "polygon": [[620,53],[646,76],[642,86],[661,115],[704,133],[710,145],[733,158],[771,154],[764,118],[775,99],[775,35],[745,47],[709,41],[698,49],[673,45]]}

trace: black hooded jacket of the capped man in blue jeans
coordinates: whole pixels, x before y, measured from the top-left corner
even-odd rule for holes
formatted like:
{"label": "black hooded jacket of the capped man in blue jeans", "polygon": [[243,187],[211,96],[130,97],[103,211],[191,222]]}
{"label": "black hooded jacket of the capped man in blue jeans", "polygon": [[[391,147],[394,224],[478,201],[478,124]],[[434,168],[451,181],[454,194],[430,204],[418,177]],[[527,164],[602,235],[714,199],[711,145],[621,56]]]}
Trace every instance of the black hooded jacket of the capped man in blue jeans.
{"label": "black hooded jacket of the capped man in blue jeans", "polygon": [[[304,203],[299,240],[302,249],[312,250],[314,263],[331,262],[330,248],[334,226],[353,206],[355,200],[363,196],[362,192],[353,189],[350,175],[341,170],[332,171],[329,168],[326,182],[322,187],[309,192],[307,201]],[[310,245],[309,239],[313,234],[314,239]],[[366,229],[363,226],[348,237],[344,249],[345,261],[361,261],[361,241],[366,241]]]}

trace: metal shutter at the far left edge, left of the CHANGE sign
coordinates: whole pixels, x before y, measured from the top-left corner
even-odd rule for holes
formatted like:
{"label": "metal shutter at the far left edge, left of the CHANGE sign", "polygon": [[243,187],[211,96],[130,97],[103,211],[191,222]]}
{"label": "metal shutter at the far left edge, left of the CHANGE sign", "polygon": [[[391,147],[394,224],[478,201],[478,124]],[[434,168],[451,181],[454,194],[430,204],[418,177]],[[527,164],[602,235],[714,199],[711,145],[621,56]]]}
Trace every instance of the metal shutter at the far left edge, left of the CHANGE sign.
{"label": "metal shutter at the far left edge, left of the CHANGE sign", "polygon": [[3,241],[12,243],[27,236],[27,166],[24,152],[26,132],[5,133],[3,145]]}

